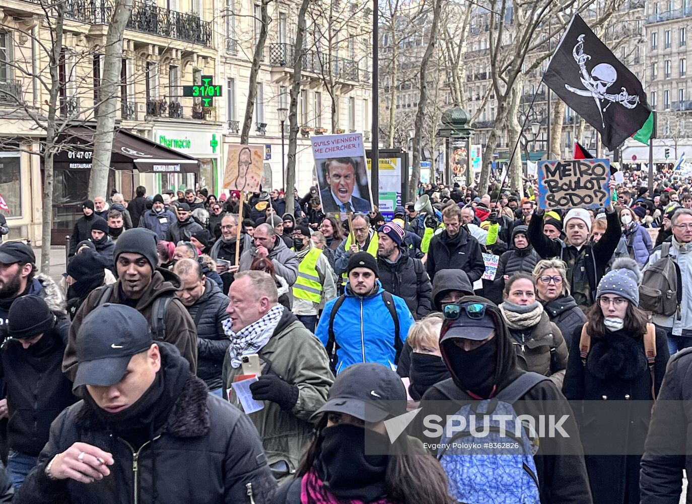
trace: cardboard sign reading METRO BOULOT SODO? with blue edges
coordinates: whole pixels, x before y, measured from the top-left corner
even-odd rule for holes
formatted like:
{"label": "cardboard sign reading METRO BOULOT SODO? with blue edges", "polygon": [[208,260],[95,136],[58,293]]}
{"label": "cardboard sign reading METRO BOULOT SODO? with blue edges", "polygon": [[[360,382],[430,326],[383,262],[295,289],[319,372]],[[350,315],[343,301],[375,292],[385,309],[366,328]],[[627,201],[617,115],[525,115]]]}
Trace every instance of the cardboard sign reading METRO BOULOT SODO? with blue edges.
{"label": "cardboard sign reading METRO BOULOT SODO? with blue edges", "polygon": [[605,208],[610,205],[610,161],[538,162],[538,208]]}

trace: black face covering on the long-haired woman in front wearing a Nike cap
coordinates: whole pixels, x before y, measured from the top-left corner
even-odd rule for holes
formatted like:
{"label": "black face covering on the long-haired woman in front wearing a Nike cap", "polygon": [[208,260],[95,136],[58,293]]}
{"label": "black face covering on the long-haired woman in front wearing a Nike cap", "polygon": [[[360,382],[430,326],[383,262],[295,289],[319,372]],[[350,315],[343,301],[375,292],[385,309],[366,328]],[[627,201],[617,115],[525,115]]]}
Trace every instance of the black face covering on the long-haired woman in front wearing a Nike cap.
{"label": "black face covering on the long-haired woman in front wearing a Nike cap", "polygon": [[320,435],[324,440],[315,468],[336,498],[372,502],[387,492],[389,456],[365,454],[366,442],[370,453],[389,453],[387,436],[352,424],[325,427]]}

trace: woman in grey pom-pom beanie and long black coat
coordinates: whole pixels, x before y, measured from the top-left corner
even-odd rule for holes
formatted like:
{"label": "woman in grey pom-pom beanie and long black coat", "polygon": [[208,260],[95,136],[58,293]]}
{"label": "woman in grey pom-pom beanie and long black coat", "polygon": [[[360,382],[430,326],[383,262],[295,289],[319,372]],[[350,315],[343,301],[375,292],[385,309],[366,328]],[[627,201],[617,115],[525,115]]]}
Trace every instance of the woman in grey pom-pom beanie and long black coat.
{"label": "woman in grey pom-pom beanie and long black coat", "polygon": [[666,333],[638,306],[640,281],[635,260],[615,260],[572,334],[563,392],[582,402],[574,412],[594,503],[639,503],[639,462],[669,357]]}

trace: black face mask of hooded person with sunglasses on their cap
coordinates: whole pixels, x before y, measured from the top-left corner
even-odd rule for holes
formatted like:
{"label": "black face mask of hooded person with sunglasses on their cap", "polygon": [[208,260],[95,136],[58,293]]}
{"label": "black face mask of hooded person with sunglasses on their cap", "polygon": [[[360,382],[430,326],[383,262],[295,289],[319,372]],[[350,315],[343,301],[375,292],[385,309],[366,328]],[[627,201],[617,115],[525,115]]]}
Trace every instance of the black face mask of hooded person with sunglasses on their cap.
{"label": "black face mask of hooded person with sunglasses on their cap", "polygon": [[443,343],[450,371],[464,390],[487,399],[493,392],[495,368],[498,366],[498,338],[466,352],[452,341]]}

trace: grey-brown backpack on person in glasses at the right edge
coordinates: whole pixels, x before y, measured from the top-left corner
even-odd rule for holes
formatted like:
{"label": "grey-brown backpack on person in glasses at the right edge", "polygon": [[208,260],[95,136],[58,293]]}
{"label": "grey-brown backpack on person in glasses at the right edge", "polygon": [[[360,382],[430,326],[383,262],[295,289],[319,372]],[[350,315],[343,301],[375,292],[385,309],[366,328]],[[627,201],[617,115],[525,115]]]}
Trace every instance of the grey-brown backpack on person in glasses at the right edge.
{"label": "grey-brown backpack on person in glasses at the right edge", "polygon": [[682,276],[680,266],[671,256],[671,244],[661,245],[661,258],[651,264],[639,286],[639,307],[655,315],[671,316],[680,313],[682,303]]}

